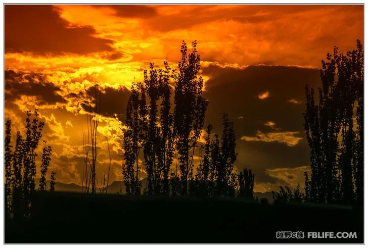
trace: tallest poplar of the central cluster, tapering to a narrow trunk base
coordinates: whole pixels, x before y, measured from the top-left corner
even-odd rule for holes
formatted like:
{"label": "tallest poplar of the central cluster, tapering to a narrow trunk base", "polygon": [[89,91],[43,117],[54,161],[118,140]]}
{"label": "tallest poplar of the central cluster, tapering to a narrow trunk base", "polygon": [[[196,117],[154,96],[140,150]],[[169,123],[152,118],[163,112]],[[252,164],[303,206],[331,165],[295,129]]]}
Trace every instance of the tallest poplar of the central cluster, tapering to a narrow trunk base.
{"label": "tallest poplar of the central cluster, tapering to a narrow trunk base", "polygon": [[192,52],[188,55],[187,44],[181,45],[179,71],[174,76],[174,134],[182,183],[182,195],[188,193],[188,175],[193,167],[193,159],[198,139],[202,132],[208,102],[202,96],[203,79],[198,77],[200,57],[197,43],[192,42]]}

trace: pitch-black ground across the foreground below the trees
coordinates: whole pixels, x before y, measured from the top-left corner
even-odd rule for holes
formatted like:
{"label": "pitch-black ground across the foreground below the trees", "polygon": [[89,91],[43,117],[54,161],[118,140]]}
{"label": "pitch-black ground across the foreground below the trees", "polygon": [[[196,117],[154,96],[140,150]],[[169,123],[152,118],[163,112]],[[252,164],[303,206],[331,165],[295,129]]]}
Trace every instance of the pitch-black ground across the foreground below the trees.
{"label": "pitch-black ground across the foreground below the trees", "polygon": [[[305,238],[277,239],[277,231]],[[357,238],[307,238],[307,232]],[[32,219],[5,222],[6,243],[362,243],[363,210],[239,199],[36,192]]]}

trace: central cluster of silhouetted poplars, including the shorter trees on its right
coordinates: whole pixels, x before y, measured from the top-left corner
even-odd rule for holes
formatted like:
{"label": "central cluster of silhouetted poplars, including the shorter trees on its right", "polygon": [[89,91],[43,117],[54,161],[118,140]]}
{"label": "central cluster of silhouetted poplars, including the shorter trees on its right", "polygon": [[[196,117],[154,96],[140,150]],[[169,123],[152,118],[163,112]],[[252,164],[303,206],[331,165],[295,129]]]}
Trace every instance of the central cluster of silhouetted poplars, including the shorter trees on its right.
{"label": "central cluster of silhouetted poplars, including the shorter trees on its right", "polygon": [[145,194],[253,199],[254,175],[248,170],[237,174],[234,169],[236,137],[227,114],[222,117],[222,136],[213,134],[209,125],[205,143],[200,145],[208,101],[202,96],[196,41],[191,52],[183,41],[180,53],[177,69],[167,62],[155,69],[151,63],[143,81],[131,86],[123,136],[126,193],[141,194],[139,172],[144,165]]}

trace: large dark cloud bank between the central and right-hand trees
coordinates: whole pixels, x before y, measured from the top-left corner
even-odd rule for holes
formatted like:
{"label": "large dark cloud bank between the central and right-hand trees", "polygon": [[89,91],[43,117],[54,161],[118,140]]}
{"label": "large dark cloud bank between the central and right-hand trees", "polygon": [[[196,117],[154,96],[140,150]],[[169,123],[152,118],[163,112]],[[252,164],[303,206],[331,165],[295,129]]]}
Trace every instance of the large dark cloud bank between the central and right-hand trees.
{"label": "large dark cloud bank between the central and right-hand trees", "polygon": [[[256,182],[275,183],[266,169],[295,168],[309,165],[309,146],[303,131],[304,87],[320,85],[319,71],[286,66],[250,66],[245,69],[210,66],[203,69],[210,79],[203,95],[209,101],[206,125],[221,133],[221,113],[235,124],[238,169],[248,168]],[[268,92],[268,97],[259,98]],[[293,100],[293,101],[290,101]],[[267,122],[271,122],[268,123]],[[274,125],[272,125],[274,124]],[[262,133],[294,132],[296,144],[276,140],[246,141],[243,136]]]}

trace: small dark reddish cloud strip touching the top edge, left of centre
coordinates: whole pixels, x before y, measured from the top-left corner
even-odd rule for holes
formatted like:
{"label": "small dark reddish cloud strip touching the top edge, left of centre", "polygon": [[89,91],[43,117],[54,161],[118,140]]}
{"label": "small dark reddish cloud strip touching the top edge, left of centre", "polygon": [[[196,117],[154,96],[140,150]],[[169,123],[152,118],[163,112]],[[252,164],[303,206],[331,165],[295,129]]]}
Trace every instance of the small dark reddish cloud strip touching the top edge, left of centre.
{"label": "small dark reddish cloud strip touching the top edge, left of centre", "polygon": [[122,18],[148,18],[155,16],[156,10],[146,5],[92,5],[94,8],[109,8],[115,11],[115,16]]}

